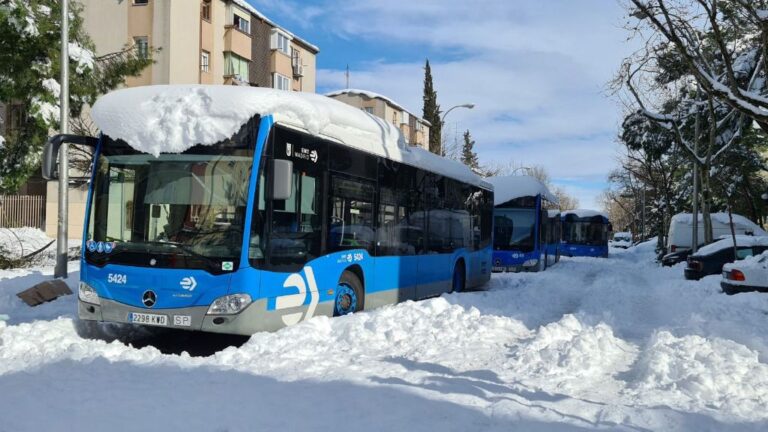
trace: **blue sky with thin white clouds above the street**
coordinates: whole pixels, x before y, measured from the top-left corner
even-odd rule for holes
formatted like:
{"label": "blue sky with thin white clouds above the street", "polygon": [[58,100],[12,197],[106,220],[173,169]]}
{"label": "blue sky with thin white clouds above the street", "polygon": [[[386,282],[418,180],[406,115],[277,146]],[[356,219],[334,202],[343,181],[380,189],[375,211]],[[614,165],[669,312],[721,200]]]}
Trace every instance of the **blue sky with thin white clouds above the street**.
{"label": "blue sky with thin white clouds above the street", "polygon": [[424,60],[443,134],[469,129],[483,163],[544,166],[554,183],[599,208],[622,108],[607,83],[632,52],[615,0],[248,0],[320,47],[318,93],[350,86],[421,114]]}

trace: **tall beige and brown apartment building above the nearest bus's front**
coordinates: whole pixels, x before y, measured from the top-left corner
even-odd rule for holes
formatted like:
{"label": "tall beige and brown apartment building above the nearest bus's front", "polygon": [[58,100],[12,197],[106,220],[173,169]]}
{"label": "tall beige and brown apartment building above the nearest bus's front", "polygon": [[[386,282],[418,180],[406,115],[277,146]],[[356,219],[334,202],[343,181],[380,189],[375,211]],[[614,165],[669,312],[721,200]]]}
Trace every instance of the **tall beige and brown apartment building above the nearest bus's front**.
{"label": "tall beige and brown apartment building above the nearest bus's front", "polygon": [[96,54],[159,48],[126,85],[234,84],[314,92],[318,47],[245,0],[77,0]]}

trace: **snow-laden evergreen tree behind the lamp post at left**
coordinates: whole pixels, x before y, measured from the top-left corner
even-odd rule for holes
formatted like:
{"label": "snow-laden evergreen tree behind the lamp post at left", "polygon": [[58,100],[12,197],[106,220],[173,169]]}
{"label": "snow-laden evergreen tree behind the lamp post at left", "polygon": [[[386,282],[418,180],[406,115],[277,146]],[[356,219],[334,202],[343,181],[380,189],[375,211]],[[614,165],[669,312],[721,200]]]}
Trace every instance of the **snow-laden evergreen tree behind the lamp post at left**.
{"label": "snow-laden evergreen tree behind the lamp post at left", "polygon": [[[70,2],[71,118],[152,63],[151,50],[141,57],[132,47],[96,58],[81,11]],[[38,169],[43,144],[59,128],[61,2],[0,1],[0,34],[0,102],[6,119],[13,113],[13,124],[0,137],[0,191],[13,192]]]}

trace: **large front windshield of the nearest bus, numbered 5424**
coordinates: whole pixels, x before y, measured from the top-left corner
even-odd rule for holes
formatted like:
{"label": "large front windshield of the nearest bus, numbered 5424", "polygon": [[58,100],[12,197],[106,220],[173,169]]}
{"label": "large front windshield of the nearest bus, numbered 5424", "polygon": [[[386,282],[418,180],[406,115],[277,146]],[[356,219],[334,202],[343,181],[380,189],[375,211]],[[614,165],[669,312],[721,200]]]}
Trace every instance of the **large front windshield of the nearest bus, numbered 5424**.
{"label": "large front windshield of the nearest bus, numbered 5424", "polygon": [[[234,267],[253,163],[255,130],[249,129],[213,146],[159,157],[104,137],[86,259],[94,264]],[[114,246],[104,253],[97,242]]]}

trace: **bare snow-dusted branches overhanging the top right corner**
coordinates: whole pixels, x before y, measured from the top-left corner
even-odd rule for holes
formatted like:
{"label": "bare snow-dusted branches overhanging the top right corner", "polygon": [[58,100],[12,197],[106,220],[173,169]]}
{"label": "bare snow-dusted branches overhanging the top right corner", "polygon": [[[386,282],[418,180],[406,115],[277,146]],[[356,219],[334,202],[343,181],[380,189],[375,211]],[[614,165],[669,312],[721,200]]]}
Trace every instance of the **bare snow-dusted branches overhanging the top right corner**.
{"label": "bare snow-dusted branches overhanging the top right corner", "polygon": [[632,31],[700,89],[768,128],[768,0],[630,0]]}

